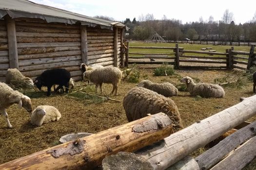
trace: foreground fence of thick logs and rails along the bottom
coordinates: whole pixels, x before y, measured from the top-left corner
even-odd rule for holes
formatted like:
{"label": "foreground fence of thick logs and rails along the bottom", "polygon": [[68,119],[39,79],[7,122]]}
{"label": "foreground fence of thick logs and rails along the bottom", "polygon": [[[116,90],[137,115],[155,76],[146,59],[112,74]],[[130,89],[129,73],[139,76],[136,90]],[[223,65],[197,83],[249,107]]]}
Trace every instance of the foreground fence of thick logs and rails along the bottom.
{"label": "foreground fence of thick logs and rails along the bottom", "polygon": [[[171,121],[158,113],[1,164],[0,170],[90,170],[121,151],[142,156],[154,170],[241,170],[255,158],[256,122],[244,122],[255,115],[256,95],[169,136]],[[188,156],[231,129],[208,151]]]}

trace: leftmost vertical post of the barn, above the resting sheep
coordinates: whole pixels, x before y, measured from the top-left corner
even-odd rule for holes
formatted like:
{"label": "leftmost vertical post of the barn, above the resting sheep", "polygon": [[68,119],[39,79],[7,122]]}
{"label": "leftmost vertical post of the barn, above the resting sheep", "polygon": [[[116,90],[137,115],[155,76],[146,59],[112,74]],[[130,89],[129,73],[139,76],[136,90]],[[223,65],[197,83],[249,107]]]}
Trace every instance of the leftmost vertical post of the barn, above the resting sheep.
{"label": "leftmost vertical post of the barn, above the resting sheep", "polygon": [[15,19],[12,19],[9,16],[7,16],[5,19],[6,19],[6,28],[7,28],[7,37],[8,37],[10,68],[19,69]]}

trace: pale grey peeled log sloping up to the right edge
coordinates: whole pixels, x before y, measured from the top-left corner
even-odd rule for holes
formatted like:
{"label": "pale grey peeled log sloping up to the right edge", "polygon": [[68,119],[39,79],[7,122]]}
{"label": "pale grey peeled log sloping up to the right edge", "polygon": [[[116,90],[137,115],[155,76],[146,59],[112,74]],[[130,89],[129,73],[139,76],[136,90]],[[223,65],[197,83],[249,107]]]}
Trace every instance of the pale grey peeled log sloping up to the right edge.
{"label": "pale grey peeled log sloping up to the right edge", "polygon": [[147,159],[154,170],[165,170],[255,115],[256,95],[166,137],[161,146],[144,148],[137,154]]}

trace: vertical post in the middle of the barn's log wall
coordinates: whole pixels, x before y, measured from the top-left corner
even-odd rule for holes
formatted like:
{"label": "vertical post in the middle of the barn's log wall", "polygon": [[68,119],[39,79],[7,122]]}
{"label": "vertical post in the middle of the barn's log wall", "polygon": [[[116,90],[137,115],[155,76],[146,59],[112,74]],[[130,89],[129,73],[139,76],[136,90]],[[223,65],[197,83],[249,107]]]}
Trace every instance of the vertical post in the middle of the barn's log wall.
{"label": "vertical post in the middle of the barn's log wall", "polygon": [[87,28],[85,25],[81,25],[81,56],[82,56],[82,63],[88,65],[88,48],[87,48]]}

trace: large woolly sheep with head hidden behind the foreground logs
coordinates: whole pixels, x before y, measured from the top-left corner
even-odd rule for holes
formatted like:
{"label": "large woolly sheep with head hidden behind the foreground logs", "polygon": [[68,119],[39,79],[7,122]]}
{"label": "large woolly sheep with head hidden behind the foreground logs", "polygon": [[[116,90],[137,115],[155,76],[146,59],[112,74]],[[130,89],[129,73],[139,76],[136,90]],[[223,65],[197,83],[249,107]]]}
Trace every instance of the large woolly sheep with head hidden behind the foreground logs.
{"label": "large woolly sheep with head hidden behind the foreground logs", "polygon": [[123,108],[129,122],[163,112],[172,120],[175,131],[183,129],[175,102],[144,87],[132,88],[123,99]]}

